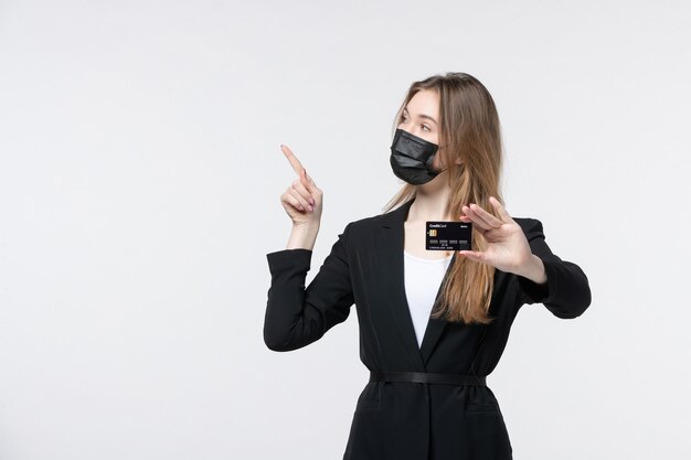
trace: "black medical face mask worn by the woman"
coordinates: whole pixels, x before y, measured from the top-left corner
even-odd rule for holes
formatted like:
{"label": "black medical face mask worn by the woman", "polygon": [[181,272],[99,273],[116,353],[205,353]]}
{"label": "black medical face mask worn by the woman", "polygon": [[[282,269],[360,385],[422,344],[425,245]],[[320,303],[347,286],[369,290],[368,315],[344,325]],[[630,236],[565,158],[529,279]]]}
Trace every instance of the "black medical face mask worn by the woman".
{"label": "black medical face mask worn by the woman", "polygon": [[439,172],[432,169],[438,146],[396,129],[391,145],[390,163],[393,173],[405,182],[419,185],[433,180]]}

